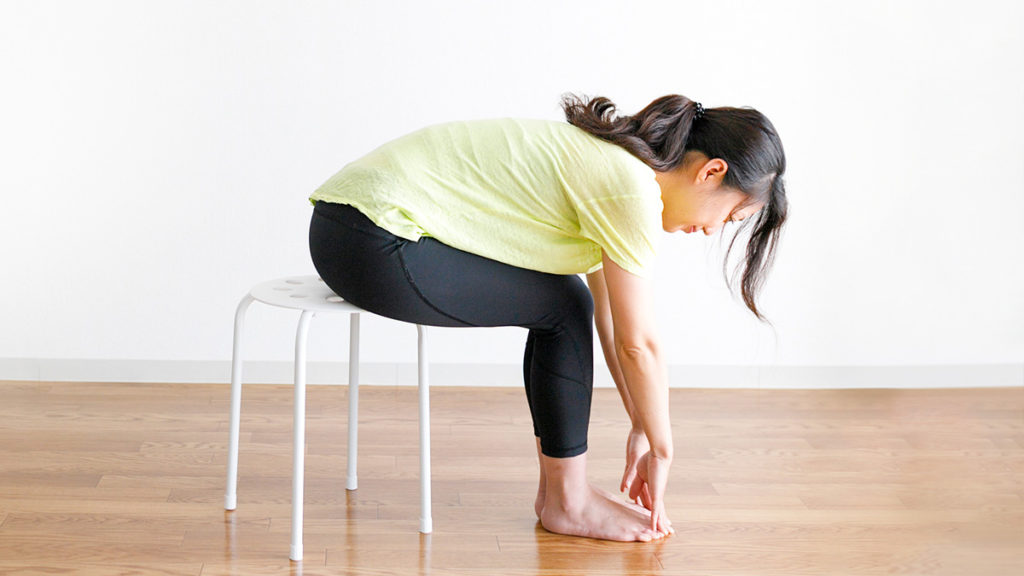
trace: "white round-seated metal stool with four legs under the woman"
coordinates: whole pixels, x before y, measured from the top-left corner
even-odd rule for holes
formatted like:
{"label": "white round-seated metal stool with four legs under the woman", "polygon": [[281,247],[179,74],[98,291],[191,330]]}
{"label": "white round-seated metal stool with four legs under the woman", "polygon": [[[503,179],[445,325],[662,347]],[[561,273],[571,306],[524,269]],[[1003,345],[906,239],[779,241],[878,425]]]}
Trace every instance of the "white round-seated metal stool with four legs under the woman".
{"label": "white round-seated metal stool with four legs under the woman", "polygon": [[[292,464],[292,547],[289,558],[302,560],[302,488],[306,430],[306,335],[309,320],[317,313],[348,313],[348,478],[345,488],[357,486],[355,465],[359,407],[359,313],[365,312],[335,294],[315,276],[280,278],[257,284],[239,302],[234,313],[234,344],[231,351],[231,416],[227,448],[227,490],[224,507],[233,510],[239,474],[239,418],[242,410],[242,327],[253,300],[272,306],[301,310],[295,335],[295,417]],[[417,325],[419,335],[420,392],[420,532],[433,529],[430,518],[430,384],[427,374],[427,329]]]}

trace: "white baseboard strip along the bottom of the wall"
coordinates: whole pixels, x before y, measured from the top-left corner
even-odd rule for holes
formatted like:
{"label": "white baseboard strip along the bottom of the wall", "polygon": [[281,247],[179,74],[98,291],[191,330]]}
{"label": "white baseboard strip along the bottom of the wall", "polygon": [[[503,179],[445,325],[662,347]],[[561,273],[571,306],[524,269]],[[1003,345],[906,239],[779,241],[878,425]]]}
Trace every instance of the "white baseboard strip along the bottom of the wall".
{"label": "white baseboard strip along the bottom of the wall", "polygon": [[[595,385],[611,386],[598,365]],[[359,381],[415,385],[416,364],[364,363]],[[290,383],[290,362],[247,362],[243,381]],[[230,362],[165,360],[0,359],[0,380],[72,382],[228,382]],[[311,384],[347,383],[348,364],[310,362]],[[509,364],[431,364],[431,385],[521,386],[522,368]],[[950,388],[1024,386],[1024,364],[920,366],[669,367],[672,387],[689,388]]]}

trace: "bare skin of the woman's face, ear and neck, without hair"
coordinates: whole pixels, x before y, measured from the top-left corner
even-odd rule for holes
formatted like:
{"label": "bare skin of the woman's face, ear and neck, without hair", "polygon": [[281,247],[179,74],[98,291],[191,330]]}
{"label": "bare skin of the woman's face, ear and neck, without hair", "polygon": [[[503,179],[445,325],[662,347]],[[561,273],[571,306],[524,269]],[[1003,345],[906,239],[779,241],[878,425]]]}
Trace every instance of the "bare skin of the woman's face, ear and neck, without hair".
{"label": "bare skin of the woman's face, ear and neck, without hair", "polygon": [[[689,154],[689,153],[688,153]],[[722,186],[728,166],[721,159],[709,160],[700,153],[673,172],[659,173],[662,225],[666,232],[711,236],[727,221],[740,221],[755,214],[763,203],[750,203],[742,192]]]}

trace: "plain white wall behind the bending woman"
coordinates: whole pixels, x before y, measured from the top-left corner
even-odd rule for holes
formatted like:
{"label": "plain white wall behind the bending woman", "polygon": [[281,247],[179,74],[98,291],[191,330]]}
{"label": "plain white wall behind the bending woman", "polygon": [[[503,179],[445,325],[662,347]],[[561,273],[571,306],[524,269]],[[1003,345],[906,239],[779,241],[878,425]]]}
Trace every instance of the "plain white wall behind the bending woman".
{"label": "plain white wall behind the bending woman", "polygon": [[[1022,16],[1011,0],[3,2],[0,379],[69,361],[68,379],[174,379],[168,363],[225,379],[234,303],[311,271],[305,198],[341,165],[433,122],[556,119],[579,91],[627,112],[670,92],[754,106],[786,147],[775,331],[730,299],[719,241],[669,237],[674,366],[965,365],[1024,384]],[[287,361],[293,327],[254,311],[250,357]],[[366,329],[368,361],[414,360],[408,327]],[[311,358],[343,360],[345,333],[317,321]],[[439,364],[519,362],[516,329],[434,334]]]}

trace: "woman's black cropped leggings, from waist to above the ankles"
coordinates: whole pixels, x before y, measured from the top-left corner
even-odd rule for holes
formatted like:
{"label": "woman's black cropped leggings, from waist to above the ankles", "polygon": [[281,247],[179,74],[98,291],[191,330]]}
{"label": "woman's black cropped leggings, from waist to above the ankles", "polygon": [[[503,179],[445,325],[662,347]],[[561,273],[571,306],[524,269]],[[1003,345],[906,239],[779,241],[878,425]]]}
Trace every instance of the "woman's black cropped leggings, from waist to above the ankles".
{"label": "woman's black cropped leggings, from waist to above the ankles", "polygon": [[594,302],[578,276],[512,266],[432,238],[404,240],[326,202],[313,209],[309,252],[327,285],[368,312],[429,326],[528,328],[523,379],[541,451],[587,451]]}

